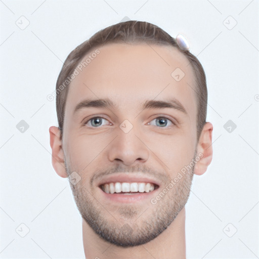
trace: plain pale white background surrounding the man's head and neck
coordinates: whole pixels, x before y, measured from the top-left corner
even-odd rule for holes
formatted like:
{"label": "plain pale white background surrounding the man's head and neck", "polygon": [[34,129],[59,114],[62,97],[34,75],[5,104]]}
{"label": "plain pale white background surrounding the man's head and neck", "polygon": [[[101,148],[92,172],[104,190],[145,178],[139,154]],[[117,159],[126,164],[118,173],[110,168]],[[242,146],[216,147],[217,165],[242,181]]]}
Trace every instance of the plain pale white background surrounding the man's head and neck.
{"label": "plain pale white background surrounding the man's head and neck", "polygon": [[[67,55],[125,16],[185,35],[206,73],[213,159],[186,205],[187,258],[258,258],[258,1],[3,0],[0,8],[1,258],[84,257],[69,183],[51,164],[57,118],[47,95]],[[25,237],[15,231],[21,223]]]}

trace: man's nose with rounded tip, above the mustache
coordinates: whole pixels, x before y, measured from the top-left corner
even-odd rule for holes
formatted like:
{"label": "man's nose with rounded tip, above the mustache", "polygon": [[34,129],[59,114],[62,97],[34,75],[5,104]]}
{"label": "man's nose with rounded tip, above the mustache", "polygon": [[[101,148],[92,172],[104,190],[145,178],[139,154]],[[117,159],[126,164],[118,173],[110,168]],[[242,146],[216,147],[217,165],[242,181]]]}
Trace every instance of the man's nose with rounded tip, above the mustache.
{"label": "man's nose with rounded tip, above the mustache", "polygon": [[128,133],[118,128],[117,137],[111,142],[108,150],[109,161],[127,166],[146,162],[149,155],[150,150],[145,145],[141,133],[135,131],[135,127]]}

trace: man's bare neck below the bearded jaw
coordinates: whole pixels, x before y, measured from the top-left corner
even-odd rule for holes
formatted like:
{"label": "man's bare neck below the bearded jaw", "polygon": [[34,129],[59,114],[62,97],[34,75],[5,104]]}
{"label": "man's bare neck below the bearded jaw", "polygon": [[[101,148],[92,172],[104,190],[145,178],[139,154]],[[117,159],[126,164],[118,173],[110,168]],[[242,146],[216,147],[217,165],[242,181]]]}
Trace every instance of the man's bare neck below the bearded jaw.
{"label": "man's bare neck below the bearded jaw", "polygon": [[82,220],[82,238],[86,259],[186,258],[185,207],[166,230],[143,245],[126,248],[115,246],[99,237],[84,220]]}

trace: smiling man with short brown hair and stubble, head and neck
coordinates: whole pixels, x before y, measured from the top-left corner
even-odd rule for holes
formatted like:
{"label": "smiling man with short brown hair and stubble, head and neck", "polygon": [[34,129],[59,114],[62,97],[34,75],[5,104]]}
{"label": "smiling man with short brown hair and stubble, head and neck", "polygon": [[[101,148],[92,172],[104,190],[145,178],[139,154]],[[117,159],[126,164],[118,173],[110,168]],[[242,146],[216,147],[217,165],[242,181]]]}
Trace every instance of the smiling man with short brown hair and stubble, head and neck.
{"label": "smiling man with short brown hair and stubble, head and neck", "polygon": [[203,68],[161,28],[127,21],[67,57],[52,163],[69,177],[86,258],[185,258],[193,174],[212,159]]}

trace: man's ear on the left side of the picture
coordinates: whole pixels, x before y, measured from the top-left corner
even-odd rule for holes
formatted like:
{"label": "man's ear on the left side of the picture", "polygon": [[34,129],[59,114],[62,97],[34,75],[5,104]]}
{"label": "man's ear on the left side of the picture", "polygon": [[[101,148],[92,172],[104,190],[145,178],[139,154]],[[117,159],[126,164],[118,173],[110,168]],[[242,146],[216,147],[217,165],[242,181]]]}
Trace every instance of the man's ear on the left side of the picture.
{"label": "man's ear on the left side of the picture", "polygon": [[58,127],[51,126],[50,145],[52,149],[52,165],[60,177],[67,178],[66,167],[64,162],[64,153],[62,149],[61,132]]}

